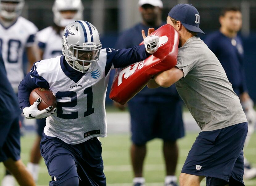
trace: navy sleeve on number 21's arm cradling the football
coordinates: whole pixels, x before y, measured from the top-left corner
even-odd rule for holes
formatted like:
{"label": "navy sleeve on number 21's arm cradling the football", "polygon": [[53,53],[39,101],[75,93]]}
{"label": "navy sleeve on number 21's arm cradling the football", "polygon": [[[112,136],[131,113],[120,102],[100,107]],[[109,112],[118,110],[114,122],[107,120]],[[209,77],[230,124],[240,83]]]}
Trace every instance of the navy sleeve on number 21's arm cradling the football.
{"label": "navy sleeve on number 21's arm cradling the football", "polygon": [[29,95],[31,91],[37,87],[49,88],[49,84],[43,77],[39,76],[34,64],[31,68],[31,72],[28,73],[19,84],[18,99],[21,110],[30,106]]}

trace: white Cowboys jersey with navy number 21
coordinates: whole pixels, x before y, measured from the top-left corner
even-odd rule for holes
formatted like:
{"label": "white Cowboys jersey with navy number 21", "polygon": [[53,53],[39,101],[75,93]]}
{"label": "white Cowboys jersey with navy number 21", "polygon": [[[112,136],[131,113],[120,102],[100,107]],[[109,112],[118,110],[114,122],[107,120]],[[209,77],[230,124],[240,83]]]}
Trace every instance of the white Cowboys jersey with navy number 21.
{"label": "white Cowboys jersey with navy number 21", "polygon": [[106,49],[102,49],[93,72],[77,82],[64,73],[60,62],[64,56],[35,63],[38,75],[47,81],[58,102],[56,113],[46,119],[47,136],[68,144],[107,136],[105,96],[110,71],[105,75],[106,56]]}

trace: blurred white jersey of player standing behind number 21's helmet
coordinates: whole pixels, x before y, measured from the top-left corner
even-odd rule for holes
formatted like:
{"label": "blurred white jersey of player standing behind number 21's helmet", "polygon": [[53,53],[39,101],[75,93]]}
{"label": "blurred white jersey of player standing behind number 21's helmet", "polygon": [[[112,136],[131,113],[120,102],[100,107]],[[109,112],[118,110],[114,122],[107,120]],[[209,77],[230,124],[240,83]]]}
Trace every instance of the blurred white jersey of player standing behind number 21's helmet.
{"label": "blurred white jersey of player standing behind number 21's helmet", "polygon": [[43,59],[62,55],[61,34],[56,33],[52,26],[40,30],[36,34],[36,41],[38,41],[40,49],[44,51]]}

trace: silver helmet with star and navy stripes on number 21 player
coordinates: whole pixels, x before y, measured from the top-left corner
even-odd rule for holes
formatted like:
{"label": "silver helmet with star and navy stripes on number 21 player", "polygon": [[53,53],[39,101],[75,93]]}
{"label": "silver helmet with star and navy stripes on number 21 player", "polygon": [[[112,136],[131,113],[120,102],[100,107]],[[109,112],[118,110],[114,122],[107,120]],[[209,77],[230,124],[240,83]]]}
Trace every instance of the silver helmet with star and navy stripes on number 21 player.
{"label": "silver helmet with star and navy stripes on number 21 player", "polygon": [[98,30],[87,21],[75,21],[66,26],[62,37],[62,52],[70,67],[78,72],[92,72],[100,56]]}

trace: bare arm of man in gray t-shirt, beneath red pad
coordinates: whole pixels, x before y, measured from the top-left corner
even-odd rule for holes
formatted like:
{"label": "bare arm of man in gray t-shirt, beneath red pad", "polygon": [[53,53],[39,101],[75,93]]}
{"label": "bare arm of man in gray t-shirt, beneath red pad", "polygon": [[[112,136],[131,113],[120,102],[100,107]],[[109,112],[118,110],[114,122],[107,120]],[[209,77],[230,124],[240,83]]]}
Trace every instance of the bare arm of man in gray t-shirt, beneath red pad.
{"label": "bare arm of man in gray t-shirt, beneath red pad", "polygon": [[180,80],[180,78],[182,78],[183,76],[184,76],[183,71],[177,67],[174,67],[174,68],[171,68],[170,70],[166,70],[164,72],[160,72],[159,74],[155,75],[154,79],[152,79],[149,83],[147,83],[147,86],[149,88],[157,88],[159,86],[170,87],[173,83]]}

